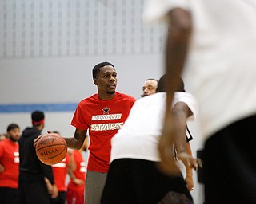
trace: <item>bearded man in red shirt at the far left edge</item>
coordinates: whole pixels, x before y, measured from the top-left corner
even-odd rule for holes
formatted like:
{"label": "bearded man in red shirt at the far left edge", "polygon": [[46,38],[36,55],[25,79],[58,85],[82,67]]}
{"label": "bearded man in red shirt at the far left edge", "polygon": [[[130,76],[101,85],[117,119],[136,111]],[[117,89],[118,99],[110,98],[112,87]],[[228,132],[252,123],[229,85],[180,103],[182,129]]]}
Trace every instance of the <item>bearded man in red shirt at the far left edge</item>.
{"label": "bearded man in red shirt at the far left edge", "polygon": [[7,127],[8,139],[0,142],[0,202],[18,204],[18,124]]}

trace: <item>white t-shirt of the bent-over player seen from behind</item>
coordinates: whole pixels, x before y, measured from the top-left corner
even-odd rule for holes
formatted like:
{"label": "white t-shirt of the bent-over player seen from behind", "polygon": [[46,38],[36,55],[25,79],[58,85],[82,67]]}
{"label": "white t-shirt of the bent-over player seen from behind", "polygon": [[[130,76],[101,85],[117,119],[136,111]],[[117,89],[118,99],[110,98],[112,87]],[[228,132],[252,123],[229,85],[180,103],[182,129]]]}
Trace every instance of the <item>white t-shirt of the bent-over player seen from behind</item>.
{"label": "white t-shirt of the bent-over player seen from behind", "polygon": [[[198,112],[198,103],[194,96],[186,92],[175,92],[174,104],[178,102],[187,104],[193,112],[193,116],[188,120],[194,120]],[[162,134],[165,110],[165,92],[158,92],[137,100],[125,124],[111,139],[110,161],[123,158],[159,161],[158,139]]]}

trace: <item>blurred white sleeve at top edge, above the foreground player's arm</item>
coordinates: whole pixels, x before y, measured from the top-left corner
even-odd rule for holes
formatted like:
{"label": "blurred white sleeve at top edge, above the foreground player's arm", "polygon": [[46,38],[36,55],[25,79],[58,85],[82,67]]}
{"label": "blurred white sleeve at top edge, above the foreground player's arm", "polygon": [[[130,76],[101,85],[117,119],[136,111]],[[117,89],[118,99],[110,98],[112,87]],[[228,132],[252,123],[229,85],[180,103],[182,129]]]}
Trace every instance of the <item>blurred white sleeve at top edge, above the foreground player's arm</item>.
{"label": "blurred white sleeve at top edge, above the foreground player's arm", "polygon": [[143,20],[147,23],[165,21],[170,10],[180,8],[190,10],[191,0],[147,0],[145,2]]}

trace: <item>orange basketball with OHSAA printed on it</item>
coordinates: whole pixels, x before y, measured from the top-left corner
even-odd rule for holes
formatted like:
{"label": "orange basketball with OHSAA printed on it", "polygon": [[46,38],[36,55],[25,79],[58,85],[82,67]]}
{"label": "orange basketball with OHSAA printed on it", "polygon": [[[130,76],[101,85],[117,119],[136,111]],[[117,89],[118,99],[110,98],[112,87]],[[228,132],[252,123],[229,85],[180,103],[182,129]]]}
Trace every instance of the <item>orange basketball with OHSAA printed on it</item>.
{"label": "orange basketball with OHSAA printed on it", "polygon": [[57,133],[48,133],[38,140],[35,151],[42,163],[47,165],[60,163],[66,156],[66,141]]}

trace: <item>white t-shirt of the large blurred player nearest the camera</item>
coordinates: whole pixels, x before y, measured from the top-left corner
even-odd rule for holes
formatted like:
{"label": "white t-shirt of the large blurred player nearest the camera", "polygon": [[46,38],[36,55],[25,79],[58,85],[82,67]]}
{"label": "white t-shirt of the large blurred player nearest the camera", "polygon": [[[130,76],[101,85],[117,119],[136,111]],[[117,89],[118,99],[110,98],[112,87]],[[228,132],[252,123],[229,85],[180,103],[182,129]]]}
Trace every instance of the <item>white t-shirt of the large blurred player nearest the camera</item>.
{"label": "white t-shirt of the large blurred player nearest the camera", "polygon": [[164,20],[175,8],[192,18],[183,79],[198,100],[207,138],[256,114],[256,1],[149,0],[144,19]]}

